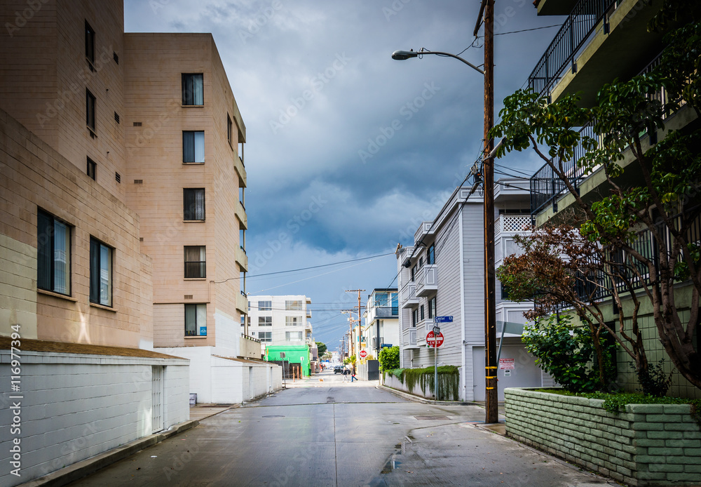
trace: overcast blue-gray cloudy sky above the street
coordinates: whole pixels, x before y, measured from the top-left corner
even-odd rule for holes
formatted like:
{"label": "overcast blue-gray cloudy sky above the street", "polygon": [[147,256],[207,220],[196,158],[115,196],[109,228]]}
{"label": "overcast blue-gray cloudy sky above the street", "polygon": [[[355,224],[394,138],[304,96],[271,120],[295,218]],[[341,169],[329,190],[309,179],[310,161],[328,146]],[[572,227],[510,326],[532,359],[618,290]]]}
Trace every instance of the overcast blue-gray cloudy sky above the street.
{"label": "overcast blue-gray cloudy sky above the street", "polygon": [[[338,309],[357,305],[345,291],[365,289],[365,305],[373,288],[396,286],[394,255],[255,275],[393,253],[433,220],[482,147],[482,76],[451,58],[390,55],[468,48],[461,56],[482,65],[479,3],[125,0],[127,32],[213,34],[247,128],[247,291],[310,297],[315,340],[329,349],[348,329]],[[562,18],[500,0],[495,20],[498,114],[557,27],[507,33]],[[529,152],[498,164],[506,173],[541,165]]]}

